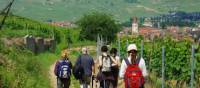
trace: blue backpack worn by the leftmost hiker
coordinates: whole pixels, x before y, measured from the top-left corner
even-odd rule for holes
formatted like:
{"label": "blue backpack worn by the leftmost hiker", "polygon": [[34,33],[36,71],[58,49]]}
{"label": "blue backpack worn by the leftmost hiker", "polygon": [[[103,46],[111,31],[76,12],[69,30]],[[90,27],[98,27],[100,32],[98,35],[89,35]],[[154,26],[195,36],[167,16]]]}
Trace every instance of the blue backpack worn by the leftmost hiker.
{"label": "blue backpack worn by the leftmost hiker", "polygon": [[60,60],[57,72],[59,78],[69,79],[71,75],[70,62],[68,60]]}

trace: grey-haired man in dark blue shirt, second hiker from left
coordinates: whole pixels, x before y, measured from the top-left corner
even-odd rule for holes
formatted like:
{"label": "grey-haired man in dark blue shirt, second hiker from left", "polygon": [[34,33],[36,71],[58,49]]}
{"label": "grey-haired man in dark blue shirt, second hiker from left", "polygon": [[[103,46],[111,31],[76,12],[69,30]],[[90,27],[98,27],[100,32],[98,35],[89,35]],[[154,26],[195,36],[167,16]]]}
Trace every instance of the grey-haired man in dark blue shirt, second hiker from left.
{"label": "grey-haired man in dark blue shirt, second hiker from left", "polygon": [[88,54],[86,47],[82,48],[82,54],[78,57],[76,64],[80,63],[83,68],[82,77],[79,79],[80,88],[90,88],[91,77],[95,72],[94,60]]}

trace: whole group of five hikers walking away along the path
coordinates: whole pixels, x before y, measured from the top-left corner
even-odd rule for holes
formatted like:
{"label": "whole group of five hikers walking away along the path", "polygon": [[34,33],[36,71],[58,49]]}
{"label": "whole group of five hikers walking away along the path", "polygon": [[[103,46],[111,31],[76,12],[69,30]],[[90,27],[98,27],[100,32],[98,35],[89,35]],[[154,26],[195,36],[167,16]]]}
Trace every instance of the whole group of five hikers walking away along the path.
{"label": "whole group of five hikers walking away along the path", "polygon": [[[137,56],[137,46],[130,44],[127,47],[127,58],[121,61],[117,56],[118,50],[107,46],[101,47],[101,55],[97,62],[86,47],[82,48],[82,54],[78,56],[74,66],[69,59],[69,52],[64,49],[61,59],[56,62],[54,73],[57,76],[57,88],[69,88],[70,77],[79,80],[80,88],[90,88],[91,80],[99,82],[99,88],[118,88],[118,79],[124,80],[124,88],[144,88],[147,70],[145,60]],[[96,64],[96,65],[95,65]],[[95,69],[97,66],[98,69]],[[95,70],[98,70],[95,75]],[[92,86],[93,87],[93,86]]]}

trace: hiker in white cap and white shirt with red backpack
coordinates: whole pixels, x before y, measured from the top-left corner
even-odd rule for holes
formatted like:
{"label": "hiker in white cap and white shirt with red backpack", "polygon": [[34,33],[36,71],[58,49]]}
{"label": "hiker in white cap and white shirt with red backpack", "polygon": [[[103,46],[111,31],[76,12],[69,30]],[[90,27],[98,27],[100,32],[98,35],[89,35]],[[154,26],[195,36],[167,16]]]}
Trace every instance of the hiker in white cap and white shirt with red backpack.
{"label": "hiker in white cap and white shirt with red backpack", "polygon": [[148,75],[145,61],[137,56],[135,44],[130,44],[127,52],[128,58],[122,61],[119,76],[124,78],[125,88],[144,88],[144,78]]}

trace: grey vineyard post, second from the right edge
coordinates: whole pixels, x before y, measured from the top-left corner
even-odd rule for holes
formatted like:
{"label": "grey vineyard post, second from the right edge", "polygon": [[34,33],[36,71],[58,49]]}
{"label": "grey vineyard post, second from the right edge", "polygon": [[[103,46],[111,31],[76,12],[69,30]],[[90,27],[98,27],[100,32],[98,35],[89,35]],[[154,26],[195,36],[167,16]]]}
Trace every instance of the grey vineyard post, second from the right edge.
{"label": "grey vineyard post, second from the right edge", "polygon": [[162,88],[165,87],[165,48],[162,47]]}

